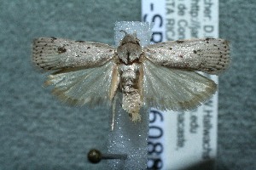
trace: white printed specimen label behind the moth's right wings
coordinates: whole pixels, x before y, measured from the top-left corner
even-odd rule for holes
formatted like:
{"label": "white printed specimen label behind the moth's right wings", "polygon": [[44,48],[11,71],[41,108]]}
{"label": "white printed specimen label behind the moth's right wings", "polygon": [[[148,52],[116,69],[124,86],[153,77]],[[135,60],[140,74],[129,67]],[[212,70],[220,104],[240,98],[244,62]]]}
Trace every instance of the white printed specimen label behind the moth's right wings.
{"label": "white printed specimen label behind the moth's right wings", "polygon": [[[218,37],[218,0],[143,0],[152,41]],[[206,76],[206,75],[204,75]],[[218,77],[208,76],[218,82]],[[194,111],[150,111],[148,168],[214,169],[218,94]]]}

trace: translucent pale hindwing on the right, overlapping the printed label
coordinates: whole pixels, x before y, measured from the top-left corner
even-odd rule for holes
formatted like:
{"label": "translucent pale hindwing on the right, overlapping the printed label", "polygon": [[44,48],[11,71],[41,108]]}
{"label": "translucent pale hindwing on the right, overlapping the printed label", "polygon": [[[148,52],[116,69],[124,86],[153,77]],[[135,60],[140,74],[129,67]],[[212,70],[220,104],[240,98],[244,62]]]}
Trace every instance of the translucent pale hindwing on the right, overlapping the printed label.
{"label": "translucent pale hindwing on the right, overlapping the printed label", "polygon": [[194,71],[143,62],[143,102],[161,111],[189,111],[215,93],[217,85]]}

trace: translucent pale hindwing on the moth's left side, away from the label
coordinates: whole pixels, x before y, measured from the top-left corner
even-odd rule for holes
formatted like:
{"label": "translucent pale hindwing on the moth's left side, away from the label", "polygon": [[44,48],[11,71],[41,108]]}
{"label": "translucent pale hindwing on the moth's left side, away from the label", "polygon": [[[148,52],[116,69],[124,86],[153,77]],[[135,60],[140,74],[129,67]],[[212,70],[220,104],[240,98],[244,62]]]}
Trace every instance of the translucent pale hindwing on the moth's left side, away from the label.
{"label": "translucent pale hindwing on the moth's left side, away from the label", "polygon": [[119,82],[116,69],[110,60],[97,67],[57,71],[45,85],[55,86],[53,94],[71,105],[110,105]]}

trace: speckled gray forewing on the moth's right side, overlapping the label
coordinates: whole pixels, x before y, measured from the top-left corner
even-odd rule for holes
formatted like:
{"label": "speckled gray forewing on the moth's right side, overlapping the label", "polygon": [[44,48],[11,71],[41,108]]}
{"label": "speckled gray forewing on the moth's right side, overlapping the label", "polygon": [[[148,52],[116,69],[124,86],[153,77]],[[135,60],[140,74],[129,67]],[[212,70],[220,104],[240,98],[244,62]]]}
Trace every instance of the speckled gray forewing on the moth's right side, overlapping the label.
{"label": "speckled gray forewing on the moth's right side, overlapping the label", "polygon": [[229,42],[219,38],[160,42],[143,50],[145,57],[155,64],[214,75],[230,64]]}

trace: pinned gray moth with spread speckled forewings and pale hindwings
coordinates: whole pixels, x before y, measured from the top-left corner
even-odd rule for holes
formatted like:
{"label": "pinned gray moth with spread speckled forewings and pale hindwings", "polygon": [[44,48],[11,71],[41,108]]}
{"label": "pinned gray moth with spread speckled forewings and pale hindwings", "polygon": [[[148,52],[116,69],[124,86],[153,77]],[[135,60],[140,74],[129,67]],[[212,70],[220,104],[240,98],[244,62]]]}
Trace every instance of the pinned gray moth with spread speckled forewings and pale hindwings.
{"label": "pinned gray moth with spread speckled forewings and pale hindwings", "polygon": [[229,42],[202,38],[146,47],[124,31],[118,48],[104,43],[40,37],[32,42],[32,62],[52,71],[45,85],[72,105],[113,105],[117,92],[133,122],[142,107],[189,111],[215,93],[217,85],[197,71],[218,75],[230,64]]}

